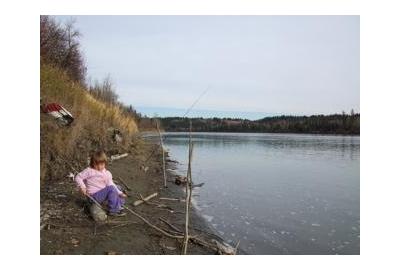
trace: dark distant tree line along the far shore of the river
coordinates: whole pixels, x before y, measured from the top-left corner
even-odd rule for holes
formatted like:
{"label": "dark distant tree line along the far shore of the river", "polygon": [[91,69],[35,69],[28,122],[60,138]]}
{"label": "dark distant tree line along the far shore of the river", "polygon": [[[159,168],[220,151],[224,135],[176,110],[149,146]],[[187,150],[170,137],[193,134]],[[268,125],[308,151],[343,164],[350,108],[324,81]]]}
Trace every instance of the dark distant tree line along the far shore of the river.
{"label": "dark distant tree line along the far shore of the river", "polygon": [[271,132],[312,134],[360,134],[360,114],[332,114],[312,116],[271,116],[259,120],[240,118],[161,118],[165,131],[189,131],[192,121],[194,132]]}

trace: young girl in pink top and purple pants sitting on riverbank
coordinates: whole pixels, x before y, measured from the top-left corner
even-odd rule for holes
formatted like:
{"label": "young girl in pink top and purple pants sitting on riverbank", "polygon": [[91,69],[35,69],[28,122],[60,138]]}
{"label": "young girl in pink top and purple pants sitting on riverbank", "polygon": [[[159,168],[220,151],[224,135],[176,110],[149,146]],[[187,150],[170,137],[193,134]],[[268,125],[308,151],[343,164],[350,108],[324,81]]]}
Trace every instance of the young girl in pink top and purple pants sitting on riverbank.
{"label": "young girl in pink top and purple pants sitting on riverbank", "polygon": [[109,215],[123,216],[122,205],[126,195],[118,189],[112,180],[112,175],[106,170],[107,156],[99,151],[90,158],[90,167],[78,173],[75,182],[84,195],[90,195],[98,203],[107,200]]}

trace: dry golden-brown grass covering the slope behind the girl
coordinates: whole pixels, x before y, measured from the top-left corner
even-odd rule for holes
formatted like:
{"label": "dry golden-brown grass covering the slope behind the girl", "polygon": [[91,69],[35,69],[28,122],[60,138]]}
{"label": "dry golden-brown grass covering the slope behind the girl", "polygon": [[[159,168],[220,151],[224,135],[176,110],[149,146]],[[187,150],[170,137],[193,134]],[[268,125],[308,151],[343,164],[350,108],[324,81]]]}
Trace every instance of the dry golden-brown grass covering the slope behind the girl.
{"label": "dry golden-brown grass covering the slope behind the girl", "polygon": [[[53,117],[41,113],[41,182],[65,177],[71,166],[85,164],[92,151],[104,149],[109,154],[123,151],[138,131],[131,115],[118,105],[94,98],[55,66],[41,65],[40,96],[42,103],[59,103],[75,118],[72,125],[64,127],[57,125]],[[124,138],[121,143],[112,140],[110,128],[121,131]]]}

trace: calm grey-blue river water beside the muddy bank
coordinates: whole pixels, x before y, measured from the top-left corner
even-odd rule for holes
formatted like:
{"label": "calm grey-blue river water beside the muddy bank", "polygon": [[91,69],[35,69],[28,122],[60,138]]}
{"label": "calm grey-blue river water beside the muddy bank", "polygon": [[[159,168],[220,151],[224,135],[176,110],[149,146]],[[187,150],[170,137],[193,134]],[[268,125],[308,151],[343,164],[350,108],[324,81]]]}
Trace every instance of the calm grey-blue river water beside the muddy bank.
{"label": "calm grey-blue river water beside the muddy bank", "polygon": [[[164,133],[186,175],[188,134]],[[193,133],[195,206],[248,254],[360,253],[360,137]]]}

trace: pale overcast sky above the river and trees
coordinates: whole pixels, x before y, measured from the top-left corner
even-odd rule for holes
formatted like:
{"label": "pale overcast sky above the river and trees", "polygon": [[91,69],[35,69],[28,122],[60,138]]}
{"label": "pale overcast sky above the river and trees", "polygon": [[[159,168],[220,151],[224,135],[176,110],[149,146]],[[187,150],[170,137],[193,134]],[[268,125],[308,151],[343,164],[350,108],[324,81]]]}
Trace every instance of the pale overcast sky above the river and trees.
{"label": "pale overcast sky above the river and trees", "polygon": [[[58,16],[66,20],[70,16]],[[74,16],[92,79],[150,116],[359,111],[359,16]]]}

